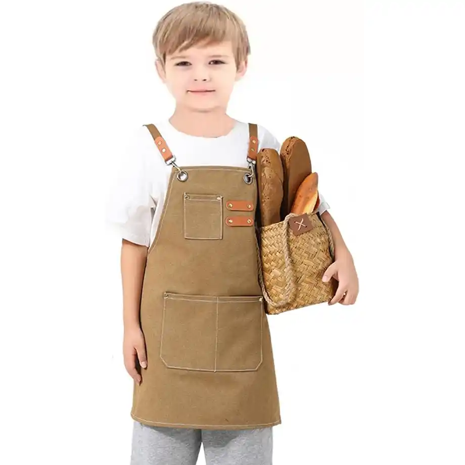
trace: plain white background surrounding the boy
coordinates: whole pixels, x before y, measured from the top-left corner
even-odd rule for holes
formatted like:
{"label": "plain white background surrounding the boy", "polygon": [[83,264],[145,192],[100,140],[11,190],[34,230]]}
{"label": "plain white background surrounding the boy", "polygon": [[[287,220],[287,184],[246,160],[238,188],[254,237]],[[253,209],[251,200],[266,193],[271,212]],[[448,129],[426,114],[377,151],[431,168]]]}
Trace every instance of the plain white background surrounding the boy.
{"label": "plain white background surrounding the boy", "polygon": [[[174,108],[151,44],[174,5],[2,6],[1,463],[129,463],[104,206],[127,136]],[[273,463],[465,463],[465,2],[224,5],[252,44],[229,114],[305,140],[360,280],[268,317]]]}

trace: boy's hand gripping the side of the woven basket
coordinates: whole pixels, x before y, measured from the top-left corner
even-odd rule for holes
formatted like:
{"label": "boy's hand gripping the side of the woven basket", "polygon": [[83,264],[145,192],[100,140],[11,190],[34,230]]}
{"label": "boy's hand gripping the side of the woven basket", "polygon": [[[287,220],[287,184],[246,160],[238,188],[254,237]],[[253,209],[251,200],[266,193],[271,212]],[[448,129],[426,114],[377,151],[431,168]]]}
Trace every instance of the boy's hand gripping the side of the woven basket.
{"label": "boy's hand gripping the side of the woven basket", "polygon": [[334,305],[337,302],[343,305],[354,304],[358,296],[358,277],[350,254],[337,258],[327,268],[323,274],[323,282],[329,281],[331,276],[339,281],[339,286],[328,305]]}

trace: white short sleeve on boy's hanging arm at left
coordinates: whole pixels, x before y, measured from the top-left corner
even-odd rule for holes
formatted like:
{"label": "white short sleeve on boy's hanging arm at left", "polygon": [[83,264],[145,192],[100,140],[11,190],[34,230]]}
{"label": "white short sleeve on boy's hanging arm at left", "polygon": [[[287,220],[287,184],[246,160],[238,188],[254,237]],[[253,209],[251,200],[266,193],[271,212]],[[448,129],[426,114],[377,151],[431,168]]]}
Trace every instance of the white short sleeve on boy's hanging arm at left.
{"label": "white short sleeve on boy's hanging arm at left", "polygon": [[153,210],[151,181],[147,169],[147,129],[140,126],[125,144],[116,180],[108,193],[106,224],[122,239],[135,244],[150,244]]}

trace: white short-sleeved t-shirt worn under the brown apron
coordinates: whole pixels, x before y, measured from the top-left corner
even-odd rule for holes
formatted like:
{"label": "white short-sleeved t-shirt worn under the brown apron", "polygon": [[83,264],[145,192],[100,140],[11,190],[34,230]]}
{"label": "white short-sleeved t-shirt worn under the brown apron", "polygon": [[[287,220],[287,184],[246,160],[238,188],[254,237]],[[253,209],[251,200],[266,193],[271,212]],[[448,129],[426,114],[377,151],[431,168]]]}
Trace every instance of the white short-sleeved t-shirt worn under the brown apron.
{"label": "white short-sleeved t-shirt worn under the brown apron", "polygon": [[[249,124],[237,121],[220,137],[200,137],[180,132],[169,120],[154,123],[176,157],[176,165],[221,165],[247,168]],[[280,152],[282,143],[258,126],[258,150]],[[171,165],[166,165],[147,127],[138,127],[126,145],[117,181],[107,200],[106,221],[123,239],[150,247],[157,232],[168,188]],[[330,207],[321,193],[318,211]]]}

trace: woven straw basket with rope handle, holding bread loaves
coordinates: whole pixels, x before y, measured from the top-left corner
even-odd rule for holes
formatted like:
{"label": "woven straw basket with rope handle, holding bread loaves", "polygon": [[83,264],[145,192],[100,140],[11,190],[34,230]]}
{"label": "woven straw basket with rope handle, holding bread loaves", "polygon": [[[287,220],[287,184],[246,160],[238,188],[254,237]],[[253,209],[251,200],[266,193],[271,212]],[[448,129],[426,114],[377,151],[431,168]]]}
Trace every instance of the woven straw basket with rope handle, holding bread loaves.
{"label": "woven straw basket with rope handle, holding bread loaves", "polygon": [[290,213],[283,221],[257,228],[259,281],[268,314],[328,302],[336,293],[333,277],[328,283],[321,281],[334,261],[327,224],[319,213],[307,214],[311,227],[295,235],[289,221],[296,216],[302,215]]}

